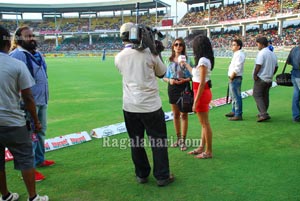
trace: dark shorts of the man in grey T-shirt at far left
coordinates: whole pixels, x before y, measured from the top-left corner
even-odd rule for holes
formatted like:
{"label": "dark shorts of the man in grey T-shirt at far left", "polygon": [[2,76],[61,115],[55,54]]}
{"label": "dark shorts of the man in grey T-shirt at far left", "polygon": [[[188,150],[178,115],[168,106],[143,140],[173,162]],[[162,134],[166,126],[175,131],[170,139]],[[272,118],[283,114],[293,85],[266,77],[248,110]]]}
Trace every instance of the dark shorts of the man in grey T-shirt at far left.
{"label": "dark shorts of the man in grey T-shirt at far left", "polygon": [[32,140],[26,126],[0,126],[0,170],[5,169],[5,147],[14,157],[16,170],[34,167]]}

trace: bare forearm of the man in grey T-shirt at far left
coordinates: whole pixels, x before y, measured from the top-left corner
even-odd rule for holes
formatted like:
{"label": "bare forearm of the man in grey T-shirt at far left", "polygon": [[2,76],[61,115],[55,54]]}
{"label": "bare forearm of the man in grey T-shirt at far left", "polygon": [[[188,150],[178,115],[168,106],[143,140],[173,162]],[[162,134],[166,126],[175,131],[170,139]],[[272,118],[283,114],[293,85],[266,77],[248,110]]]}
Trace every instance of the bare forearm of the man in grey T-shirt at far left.
{"label": "bare forearm of the man in grey T-shirt at far left", "polygon": [[34,103],[31,89],[30,88],[23,89],[21,90],[21,94],[25,104],[25,108],[30,113],[33,119],[35,129],[37,131],[41,130],[42,126],[36,114],[36,108],[35,108],[35,103]]}

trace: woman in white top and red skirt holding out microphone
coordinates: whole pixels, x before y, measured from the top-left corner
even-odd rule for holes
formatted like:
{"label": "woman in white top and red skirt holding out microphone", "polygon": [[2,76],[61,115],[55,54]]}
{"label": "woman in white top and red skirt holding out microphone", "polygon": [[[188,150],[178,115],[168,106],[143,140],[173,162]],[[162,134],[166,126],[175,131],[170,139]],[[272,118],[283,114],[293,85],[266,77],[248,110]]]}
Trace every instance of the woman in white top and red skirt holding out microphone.
{"label": "woman in white top and red skirt holding out microphone", "polygon": [[197,114],[202,133],[200,146],[188,154],[196,155],[195,158],[199,159],[209,159],[213,157],[212,129],[208,118],[209,104],[212,100],[210,75],[215,63],[209,38],[203,35],[196,36],[193,40],[193,52],[197,66],[192,68],[186,62],[183,62],[182,65],[186,66],[193,75],[193,111]]}

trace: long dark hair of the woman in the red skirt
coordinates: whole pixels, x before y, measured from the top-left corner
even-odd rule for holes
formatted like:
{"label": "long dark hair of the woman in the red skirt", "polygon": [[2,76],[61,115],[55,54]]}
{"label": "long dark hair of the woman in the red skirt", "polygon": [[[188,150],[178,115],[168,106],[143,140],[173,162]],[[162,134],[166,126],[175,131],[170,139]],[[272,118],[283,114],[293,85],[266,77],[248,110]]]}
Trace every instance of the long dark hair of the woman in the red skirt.
{"label": "long dark hair of the woman in the red skirt", "polygon": [[215,57],[209,38],[203,35],[196,36],[193,40],[193,52],[196,64],[198,64],[201,57],[206,57],[210,60],[211,70],[213,70]]}

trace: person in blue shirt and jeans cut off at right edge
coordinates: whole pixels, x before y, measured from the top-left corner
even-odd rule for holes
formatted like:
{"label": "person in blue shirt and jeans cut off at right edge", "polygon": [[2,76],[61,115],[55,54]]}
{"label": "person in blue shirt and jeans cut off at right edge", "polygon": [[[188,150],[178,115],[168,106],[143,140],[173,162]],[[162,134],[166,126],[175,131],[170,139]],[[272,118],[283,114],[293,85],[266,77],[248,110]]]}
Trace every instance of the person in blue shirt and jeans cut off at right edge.
{"label": "person in blue shirt and jeans cut off at right edge", "polygon": [[294,86],[292,101],[293,121],[300,122],[300,45],[290,51],[287,63],[293,66],[291,71]]}

